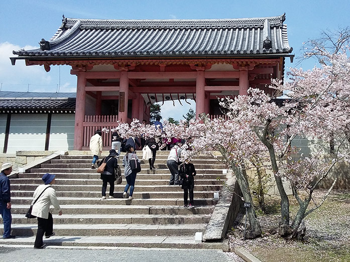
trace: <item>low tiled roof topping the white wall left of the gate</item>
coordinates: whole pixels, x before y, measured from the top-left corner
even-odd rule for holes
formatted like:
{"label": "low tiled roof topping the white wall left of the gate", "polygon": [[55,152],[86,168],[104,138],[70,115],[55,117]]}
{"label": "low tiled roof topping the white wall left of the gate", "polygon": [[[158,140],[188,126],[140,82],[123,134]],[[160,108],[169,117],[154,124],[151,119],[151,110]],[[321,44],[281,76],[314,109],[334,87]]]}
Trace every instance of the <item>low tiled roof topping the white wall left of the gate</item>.
{"label": "low tiled roof topping the white wall left of the gate", "polygon": [[57,109],[74,110],[75,93],[0,92],[0,110]]}

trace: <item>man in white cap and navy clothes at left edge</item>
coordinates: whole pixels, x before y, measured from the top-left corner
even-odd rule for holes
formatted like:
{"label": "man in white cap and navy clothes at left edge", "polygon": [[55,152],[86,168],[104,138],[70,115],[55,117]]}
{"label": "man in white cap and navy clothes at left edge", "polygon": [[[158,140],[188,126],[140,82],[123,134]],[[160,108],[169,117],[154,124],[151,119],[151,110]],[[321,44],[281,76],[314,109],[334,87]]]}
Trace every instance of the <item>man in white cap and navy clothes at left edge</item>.
{"label": "man in white cap and navy clothes at left edge", "polygon": [[11,234],[11,192],[10,179],[7,177],[11,172],[12,164],[4,163],[1,167],[0,173],[0,212],[4,220],[4,239],[16,237]]}

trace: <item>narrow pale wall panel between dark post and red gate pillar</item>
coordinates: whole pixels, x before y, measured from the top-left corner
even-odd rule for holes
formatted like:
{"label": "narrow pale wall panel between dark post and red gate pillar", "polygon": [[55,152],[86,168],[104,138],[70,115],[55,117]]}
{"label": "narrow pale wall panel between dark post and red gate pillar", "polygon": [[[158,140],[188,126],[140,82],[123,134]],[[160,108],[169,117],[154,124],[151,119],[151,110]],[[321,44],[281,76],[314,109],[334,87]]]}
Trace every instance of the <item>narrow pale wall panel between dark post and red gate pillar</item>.
{"label": "narrow pale wall panel between dark post and red gate pillar", "polygon": [[74,114],[52,114],[49,150],[73,150]]}

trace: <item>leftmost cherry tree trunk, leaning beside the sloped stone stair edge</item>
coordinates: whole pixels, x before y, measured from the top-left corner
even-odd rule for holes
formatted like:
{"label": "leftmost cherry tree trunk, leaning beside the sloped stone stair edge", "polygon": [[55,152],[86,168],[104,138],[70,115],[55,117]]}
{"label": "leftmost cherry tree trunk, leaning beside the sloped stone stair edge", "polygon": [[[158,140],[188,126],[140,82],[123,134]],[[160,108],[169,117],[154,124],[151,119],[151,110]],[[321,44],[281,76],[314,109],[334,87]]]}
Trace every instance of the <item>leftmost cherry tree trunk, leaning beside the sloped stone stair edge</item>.
{"label": "leftmost cherry tree trunk, leaning beside the sloped stone stair edge", "polygon": [[252,195],[249,190],[246,170],[234,164],[232,164],[232,170],[236,175],[237,182],[240,185],[245,201],[251,203],[251,207],[248,208],[248,217],[251,229],[246,232],[246,238],[256,238],[261,235],[261,227],[253,205]]}

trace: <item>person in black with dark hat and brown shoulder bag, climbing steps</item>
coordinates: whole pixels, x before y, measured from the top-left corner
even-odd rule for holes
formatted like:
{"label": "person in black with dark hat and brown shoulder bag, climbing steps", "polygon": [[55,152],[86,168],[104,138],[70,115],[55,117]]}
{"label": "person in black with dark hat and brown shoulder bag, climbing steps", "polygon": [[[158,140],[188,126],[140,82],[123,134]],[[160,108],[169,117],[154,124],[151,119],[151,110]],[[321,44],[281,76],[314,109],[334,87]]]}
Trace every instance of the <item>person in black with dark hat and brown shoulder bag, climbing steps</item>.
{"label": "person in black with dark hat and brown shoulder bag, climbing steps", "polygon": [[102,179],[102,199],[106,199],[107,182],[109,183],[109,197],[114,198],[114,181],[115,181],[115,168],[118,166],[118,160],[115,158],[118,153],[114,149],[109,150],[109,155],[104,157],[98,164],[100,166],[103,162],[106,166],[101,174]]}

